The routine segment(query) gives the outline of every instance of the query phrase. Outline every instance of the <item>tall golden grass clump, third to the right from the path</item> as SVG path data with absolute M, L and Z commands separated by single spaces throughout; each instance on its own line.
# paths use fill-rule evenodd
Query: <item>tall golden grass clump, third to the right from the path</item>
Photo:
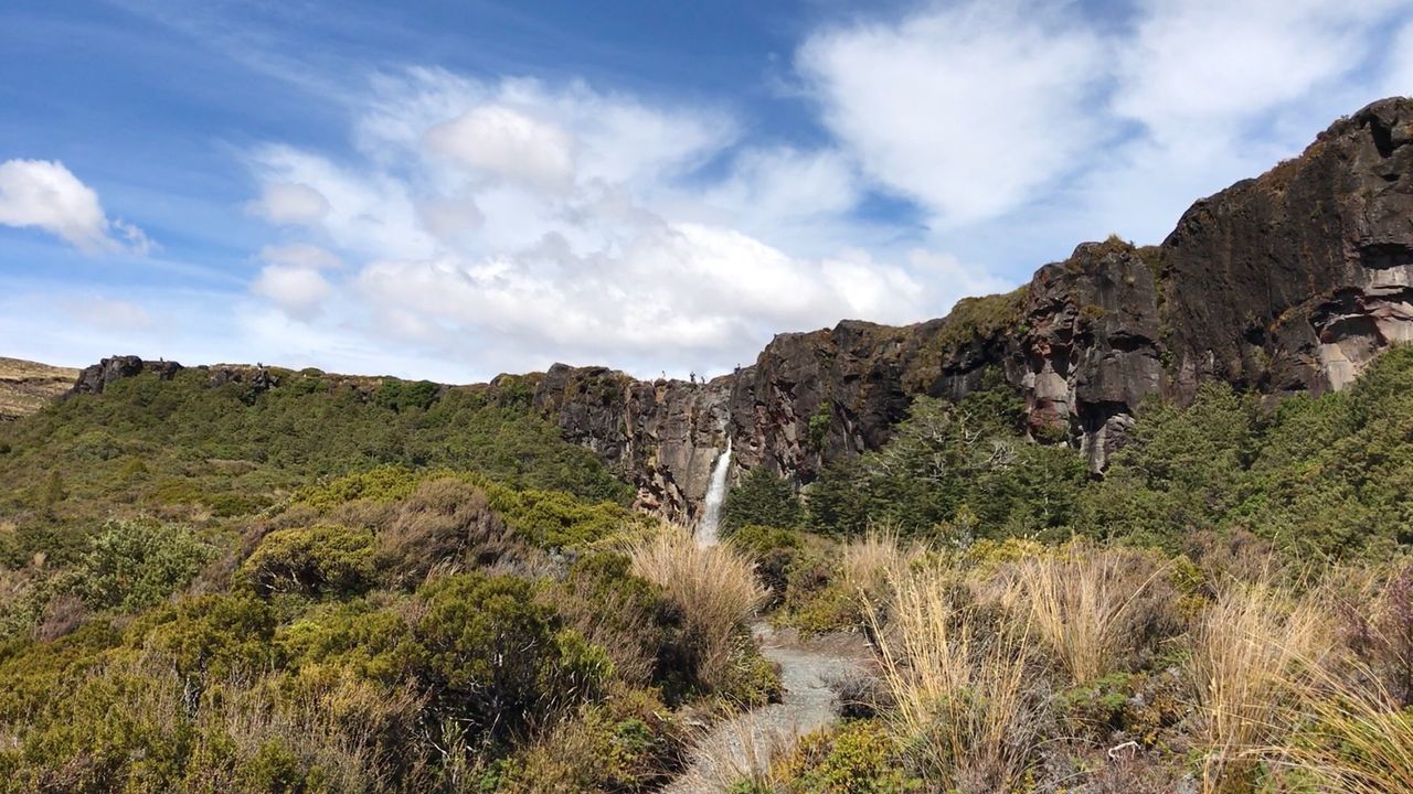
M 1260 749 L 1291 728 L 1291 699 L 1335 646 L 1330 610 L 1269 585 L 1231 583 L 1197 620 L 1190 678 L 1204 791 L 1245 786 Z

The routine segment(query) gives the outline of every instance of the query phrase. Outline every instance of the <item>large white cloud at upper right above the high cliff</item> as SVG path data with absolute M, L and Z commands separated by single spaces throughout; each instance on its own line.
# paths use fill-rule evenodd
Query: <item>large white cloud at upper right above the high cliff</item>
M 818 31 L 796 61 L 842 154 L 911 198 L 934 244 L 975 253 L 972 240 L 1046 229 L 1051 247 L 1013 268 L 1108 232 L 1157 242 L 1197 198 L 1378 95 L 1413 92 L 1409 0 L 1128 11 L 924 3 Z

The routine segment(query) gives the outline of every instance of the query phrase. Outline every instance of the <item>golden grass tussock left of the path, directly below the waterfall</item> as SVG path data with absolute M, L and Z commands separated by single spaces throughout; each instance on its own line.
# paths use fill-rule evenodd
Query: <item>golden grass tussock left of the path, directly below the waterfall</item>
M 627 551 L 633 575 L 661 586 L 682 609 L 697 650 L 698 678 L 709 687 L 721 685 L 742 624 L 766 599 L 755 565 L 729 545 L 698 545 L 681 527 L 663 527 L 632 543 Z

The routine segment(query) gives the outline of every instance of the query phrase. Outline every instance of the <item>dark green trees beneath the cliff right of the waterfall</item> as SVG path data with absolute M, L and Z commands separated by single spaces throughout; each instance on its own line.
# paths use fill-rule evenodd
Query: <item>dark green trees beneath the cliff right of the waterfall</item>
M 1188 405 L 1142 405 L 1099 480 L 1071 449 L 1026 441 L 1002 389 L 918 398 L 883 449 L 807 487 L 807 526 L 858 535 L 882 524 L 958 545 L 1082 534 L 1174 552 L 1204 533 L 1249 531 L 1300 555 L 1388 555 L 1413 543 L 1410 394 L 1409 348 L 1347 391 L 1275 410 L 1207 383 Z

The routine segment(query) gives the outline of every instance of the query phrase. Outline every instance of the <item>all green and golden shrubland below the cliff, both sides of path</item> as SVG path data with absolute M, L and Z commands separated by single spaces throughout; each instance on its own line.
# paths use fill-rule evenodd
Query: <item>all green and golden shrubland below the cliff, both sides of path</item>
M 0 791 L 653 791 L 859 632 L 738 794 L 1413 788 L 1413 350 L 1143 407 L 1105 478 L 920 398 L 721 547 L 514 389 L 141 376 L 0 428 Z

